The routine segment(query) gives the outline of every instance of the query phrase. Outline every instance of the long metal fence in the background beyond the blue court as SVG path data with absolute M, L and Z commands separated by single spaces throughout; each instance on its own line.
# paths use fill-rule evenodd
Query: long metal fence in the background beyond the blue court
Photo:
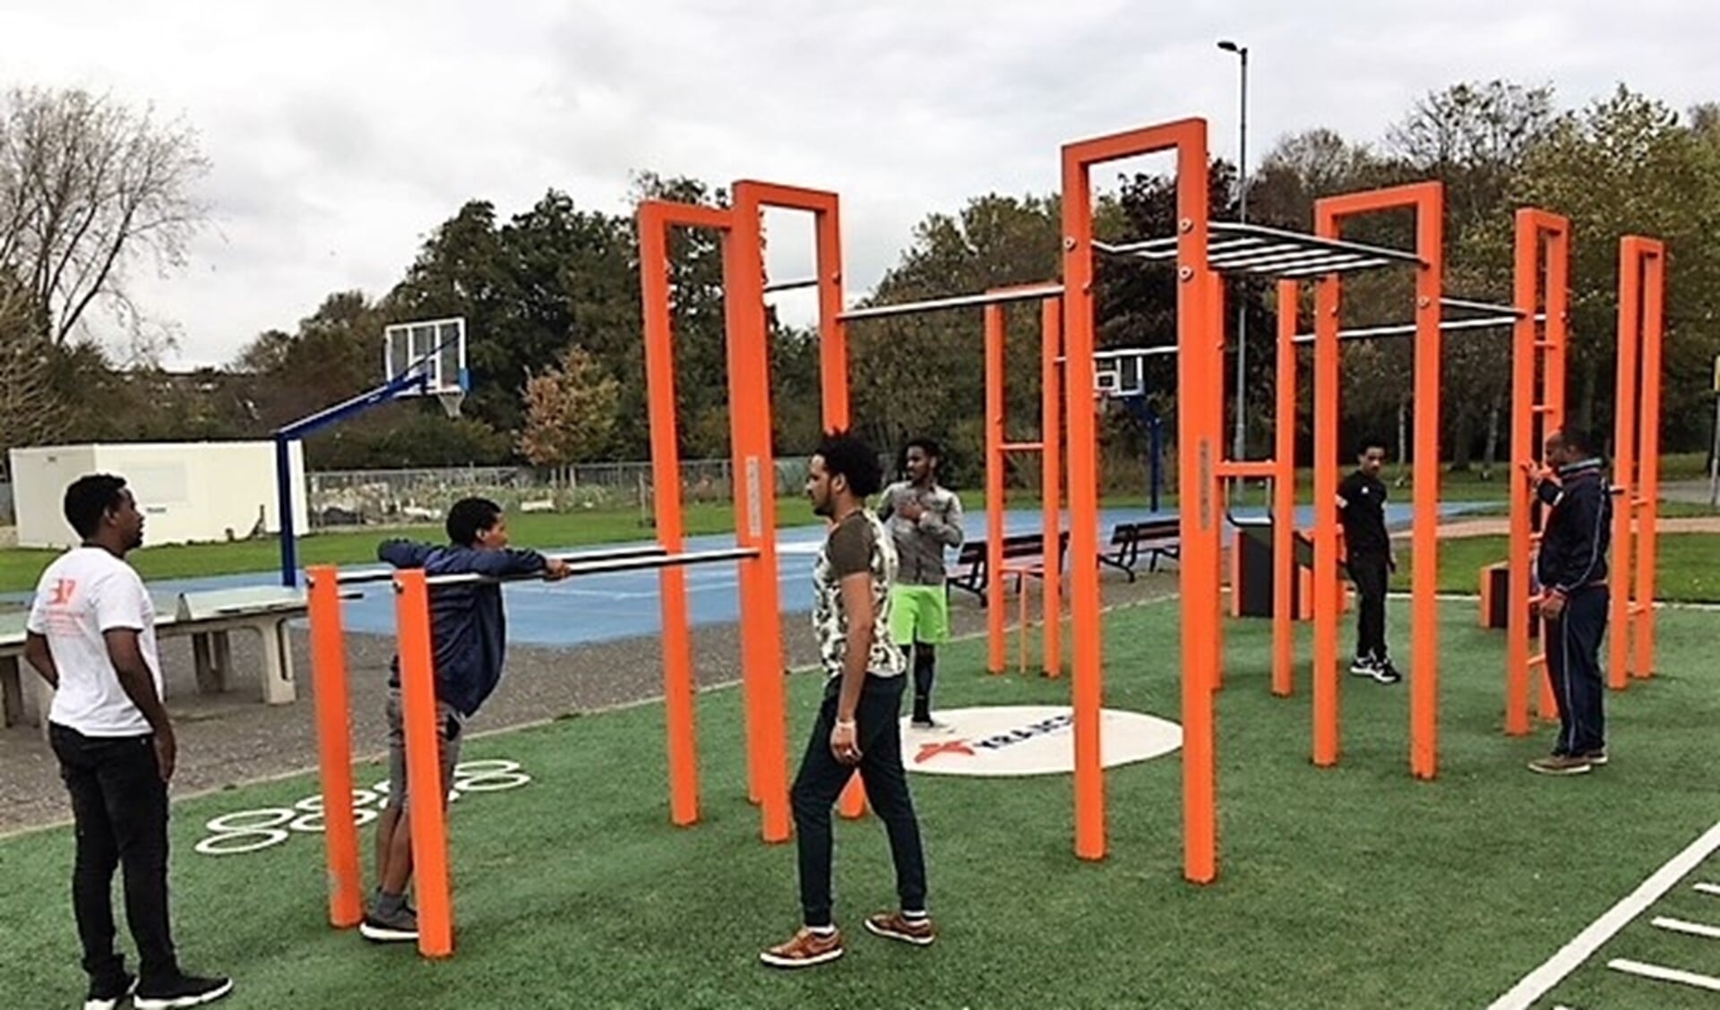
M 777 495 L 798 495 L 805 459 L 776 460 Z M 435 522 L 466 496 L 490 498 L 507 512 L 652 512 L 655 483 L 648 462 L 531 467 L 447 467 L 409 471 L 322 471 L 306 474 L 313 529 Z M 733 502 L 729 460 L 683 460 L 681 500 Z

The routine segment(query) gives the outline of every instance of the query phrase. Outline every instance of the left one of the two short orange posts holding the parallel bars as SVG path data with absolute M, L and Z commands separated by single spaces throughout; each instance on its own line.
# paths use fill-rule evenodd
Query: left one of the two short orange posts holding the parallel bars
M 334 565 L 311 565 L 311 682 L 316 685 L 316 764 L 323 795 L 323 849 L 329 862 L 329 924 L 358 926 L 365 917 L 353 816 L 353 718 L 346 684 L 341 582 Z

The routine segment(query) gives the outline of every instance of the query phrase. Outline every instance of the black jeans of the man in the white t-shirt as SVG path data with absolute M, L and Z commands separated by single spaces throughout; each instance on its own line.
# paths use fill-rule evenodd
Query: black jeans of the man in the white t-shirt
M 167 783 L 155 763 L 155 737 L 86 737 L 52 723 L 48 740 L 72 794 L 77 862 L 72 912 L 93 983 L 124 976 L 114 952 L 114 869 L 126 867 L 126 924 L 138 943 L 143 983 L 174 979 L 174 936 L 167 926 Z

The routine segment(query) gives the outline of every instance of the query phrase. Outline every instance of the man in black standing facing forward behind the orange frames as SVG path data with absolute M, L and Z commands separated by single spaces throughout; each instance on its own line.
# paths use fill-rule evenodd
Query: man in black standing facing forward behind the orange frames
M 1379 479 L 1385 462 L 1386 447 L 1378 438 L 1362 440 L 1355 472 L 1338 484 L 1338 519 L 1359 605 L 1350 673 L 1397 684 L 1404 677 L 1386 651 L 1386 581 L 1397 570 L 1397 557 L 1386 534 L 1386 484 Z

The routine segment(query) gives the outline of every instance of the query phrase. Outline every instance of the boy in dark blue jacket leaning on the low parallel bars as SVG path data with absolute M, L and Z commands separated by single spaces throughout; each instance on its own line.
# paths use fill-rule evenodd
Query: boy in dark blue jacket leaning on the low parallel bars
M 423 569 L 427 575 L 476 574 L 497 579 L 542 572 L 566 579 L 568 563 L 530 550 L 509 550 L 502 508 L 487 498 L 463 498 L 447 512 L 444 546 L 389 539 L 377 558 L 396 569 Z M 430 644 L 435 663 L 437 751 L 442 766 L 440 800 L 459 763 L 459 745 L 470 720 L 502 678 L 507 617 L 497 582 L 464 582 L 430 589 Z M 389 677 L 389 806 L 377 819 L 377 893 L 359 933 L 378 943 L 418 940 L 418 916 L 406 905 L 413 876 L 413 833 L 406 788 L 406 732 L 401 723 L 401 663 Z M 423 794 L 421 794 L 423 795 Z

